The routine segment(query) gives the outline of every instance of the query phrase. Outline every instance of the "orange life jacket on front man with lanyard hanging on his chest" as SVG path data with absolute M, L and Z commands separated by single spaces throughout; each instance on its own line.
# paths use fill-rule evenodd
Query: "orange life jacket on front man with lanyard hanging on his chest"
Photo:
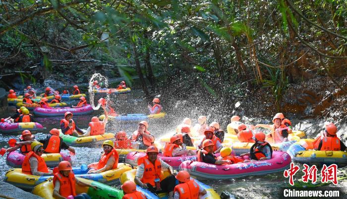
M 141 182 L 144 184 L 149 183 L 155 187 L 154 180 L 156 178 L 159 178 L 160 181 L 162 181 L 162 164 L 160 163 L 160 160 L 157 158 L 153 165 L 153 163 L 148 159 L 148 156 L 145 156 L 137 160 L 138 166 L 142 163 L 145 165 L 145 171 L 143 172 Z

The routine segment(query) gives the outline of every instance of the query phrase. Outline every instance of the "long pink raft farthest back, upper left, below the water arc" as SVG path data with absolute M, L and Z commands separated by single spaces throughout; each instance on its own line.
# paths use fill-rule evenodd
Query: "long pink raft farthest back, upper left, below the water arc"
M 80 108 L 56 108 L 56 109 L 45 109 L 45 108 L 35 108 L 34 114 L 39 117 L 52 117 L 52 116 L 64 116 L 65 112 L 71 112 L 74 116 L 86 115 L 93 112 L 92 106 L 90 104 L 80 107 Z

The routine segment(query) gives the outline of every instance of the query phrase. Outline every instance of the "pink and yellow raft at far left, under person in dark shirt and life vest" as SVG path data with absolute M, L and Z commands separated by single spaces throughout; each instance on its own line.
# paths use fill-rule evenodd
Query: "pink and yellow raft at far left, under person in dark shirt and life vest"
M 62 160 L 71 162 L 70 156 L 64 153 L 43 154 L 41 157 L 45 159 L 47 166 L 51 168 L 58 166 L 59 162 L 61 162 Z M 12 151 L 7 155 L 6 164 L 14 168 L 21 168 L 24 158 L 25 155 L 21 154 L 19 150 Z

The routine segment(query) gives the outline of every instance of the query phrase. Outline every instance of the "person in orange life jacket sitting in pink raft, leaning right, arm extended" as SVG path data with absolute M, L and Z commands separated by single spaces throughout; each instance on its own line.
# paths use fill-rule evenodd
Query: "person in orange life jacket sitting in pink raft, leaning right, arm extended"
M 192 150 L 187 150 L 185 144 L 181 142 L 181 139 L 177 135 L 173 135 L 170 138 L 170 143 L 167 143 L 164 147 L 164 156 L 196 156 L 196 153 Z

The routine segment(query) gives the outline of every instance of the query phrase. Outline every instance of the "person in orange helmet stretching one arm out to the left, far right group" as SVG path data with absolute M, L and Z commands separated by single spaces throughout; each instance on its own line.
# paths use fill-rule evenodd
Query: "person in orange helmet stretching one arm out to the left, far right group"
M 277 113 L 274 118 L 272 119 L 272 122 L 274 124 L 257 124 L 255 127 L 263 127 L 268 128 L 271 130 L 271 133 L 267 135 L 267 138 L 272 138 L 274 143 L 282 143 L 288 141 L 288 135 L 291 133 L 291 129 L 286 126 L 285 124 L 282 124 L 282 119 L 284 119 L 283 114 Z

